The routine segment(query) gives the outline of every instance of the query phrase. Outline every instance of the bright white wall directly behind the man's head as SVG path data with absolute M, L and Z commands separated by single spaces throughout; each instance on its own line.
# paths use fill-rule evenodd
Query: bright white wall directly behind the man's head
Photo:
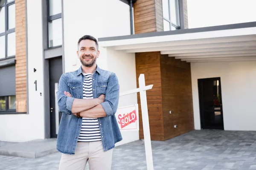
M 63 0 L 65 71 L 80 66 L 77 41 L 84 35 L 112 37 L 130 34 L 129 6 L 120 0 Z M 100 48 L 98 65 L 107 69 L 106 51 Z

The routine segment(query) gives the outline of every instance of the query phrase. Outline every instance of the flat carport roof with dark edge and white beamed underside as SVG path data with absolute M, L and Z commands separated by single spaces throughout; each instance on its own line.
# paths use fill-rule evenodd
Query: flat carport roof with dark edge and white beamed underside
M 160 51 L 187 62 L 256 60 L 256 22 L 99 38 L 127 53 Z

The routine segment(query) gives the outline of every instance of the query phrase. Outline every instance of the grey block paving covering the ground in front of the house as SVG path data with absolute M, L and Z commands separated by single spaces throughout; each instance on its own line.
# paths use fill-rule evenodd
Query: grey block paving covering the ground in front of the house
M 151 145 L 154 170 L 256 169 L 255 131 L 193 130 Z M 0 170 L 58 170 L 60 158 L 61 153 L 36 159 L 0 156 Z M 114 148 L 111 170 L 146 170 L 146 166 L 141 140 Z

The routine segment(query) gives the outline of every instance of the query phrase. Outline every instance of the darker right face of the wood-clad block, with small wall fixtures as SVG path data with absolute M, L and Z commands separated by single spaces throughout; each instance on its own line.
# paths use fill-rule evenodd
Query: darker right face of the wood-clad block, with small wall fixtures
M 161 55 L 164 140 L 194 130 L 190 63 Z M 172 114 L 169 114 L 172 111 Z M 177 128 L 174 128 L 177 125 Z

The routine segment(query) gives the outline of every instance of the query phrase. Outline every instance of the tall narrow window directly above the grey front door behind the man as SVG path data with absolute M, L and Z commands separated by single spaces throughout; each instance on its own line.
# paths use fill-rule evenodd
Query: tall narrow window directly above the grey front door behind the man
M 48 48 L 62 45 L 61 0 L 48 0 Z

